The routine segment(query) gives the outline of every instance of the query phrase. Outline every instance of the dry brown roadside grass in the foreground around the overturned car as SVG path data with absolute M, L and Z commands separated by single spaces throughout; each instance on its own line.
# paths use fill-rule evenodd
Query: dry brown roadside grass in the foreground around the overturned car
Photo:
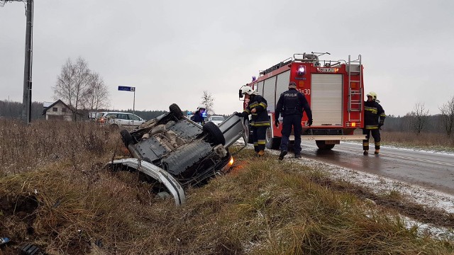
M 454 252 L 452 242 L 315 182 L 317 171 L 247 149 L 231 173 L 189 189 L 175 208 L 135 174 L 101 167 L 124 155 L 116 132 L 90 123 L 0 126 L 0 237 L 13 240 L 0 254 L 17 254 L 23 242 L 48 254 Z

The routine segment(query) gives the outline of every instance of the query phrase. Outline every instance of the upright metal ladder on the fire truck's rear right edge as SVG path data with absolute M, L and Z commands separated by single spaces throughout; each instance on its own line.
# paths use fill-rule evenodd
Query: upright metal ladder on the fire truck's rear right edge
M 351 60 L 348 55 L 348 119 L 351 112 L 362 111 L 362 65 L 361 55 L 358 55 L 357 60 Z M 361 118 L 361 115 L 360 115 Z M 354 120 L 354 121 L 360 121 Z

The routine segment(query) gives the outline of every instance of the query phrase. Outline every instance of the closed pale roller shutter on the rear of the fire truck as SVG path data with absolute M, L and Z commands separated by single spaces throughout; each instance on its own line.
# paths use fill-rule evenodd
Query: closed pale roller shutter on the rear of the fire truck
M 342 126 L 342 74 L 312 74 L 313 126 Z

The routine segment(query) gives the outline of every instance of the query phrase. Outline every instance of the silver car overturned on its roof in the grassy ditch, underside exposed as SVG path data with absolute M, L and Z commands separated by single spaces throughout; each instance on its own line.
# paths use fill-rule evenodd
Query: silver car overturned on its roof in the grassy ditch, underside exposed
M 184 117 L 175 103 L 169 110 L 131 132 L 121 130 L 133 158 L 108 165 L 114 170 L 140 171 L 146 181 L 156 184 L 158 193 L 171 193 L 179 205 L 186 200 L 185 187 L 199 186 L 231 168 L 228 147 L 242 137 L 244 127 L 236 115 L 219 125 L 208 122 L 202 126 Z

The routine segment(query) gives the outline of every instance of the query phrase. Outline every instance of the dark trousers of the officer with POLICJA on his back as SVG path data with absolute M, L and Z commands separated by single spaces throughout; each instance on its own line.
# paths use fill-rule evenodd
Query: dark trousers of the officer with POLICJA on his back
M 301 118 L 302 115 L 287 115 L 284 116 L 282 120 L 282 139 L 281 139 L 281 152 L 287 152 L 288 145 L 289 145 L 289 137 L 292 133 L 292 126 L 293 126 L 293 134 L 295 136 L 295 145 L 294 145 L 294 153 L 298 155 L 301 153 Z

